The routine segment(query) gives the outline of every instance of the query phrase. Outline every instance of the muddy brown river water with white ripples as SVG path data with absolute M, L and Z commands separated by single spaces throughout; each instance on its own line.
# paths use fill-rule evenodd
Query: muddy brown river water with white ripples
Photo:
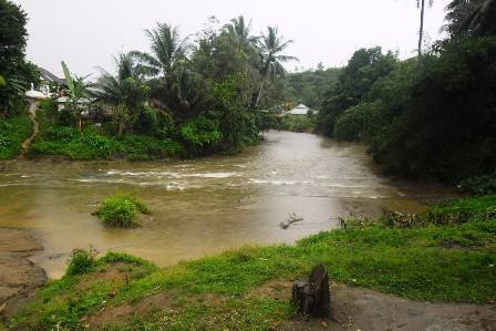
M 60 277 L 74 248 L 125 251 L 159 266 L 244 245 L 294 242 L 354 213 L 381 206 L 416 213 L 443 187 L 392 180 L 356 144 L 270 132 L 260 146 L 230 157 L 153 163 L 22 163 L 0 173 L 0 227 L 32 229 L 45 250 L 34 257 Z M 106 228 L 91 215 L 104 196 L 136 190 L 152 209 L 137 229 Z M 290 214 L 303 218 L 283 230 Z

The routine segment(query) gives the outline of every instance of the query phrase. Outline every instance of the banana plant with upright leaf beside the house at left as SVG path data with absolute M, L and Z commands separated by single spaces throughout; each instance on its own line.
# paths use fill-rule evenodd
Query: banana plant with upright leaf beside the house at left
M 90 96 L 87 87 L 92 86 L 92 83 L 85 82 L 85 79 L 87 79 L 89 75 L 84 77 L 72 75 L 65 62 L 62 61 L 61 64 L 65 76 L 65 83 L 69 87 L 69 99 L 65 103 L 65 107 L 72 112 L 78 128 L 82 131 L 81 107 L 78 103 L 81 99 L 87 99 Z

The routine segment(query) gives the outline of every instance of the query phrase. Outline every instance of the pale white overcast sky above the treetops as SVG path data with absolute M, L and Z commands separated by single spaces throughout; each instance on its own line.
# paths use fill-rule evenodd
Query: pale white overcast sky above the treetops
M 182 37 L 196 34 L 215 15 L 220 25 L 244 15 L 252 20 L 252 34 L 277 25 L 293 43 L 285 51 L 300 62 L 289 71 L 343 66 L 360 48 L 382 46 L 414 55 L 420 10 L 415 0 L 11 0 L 28 13 L 28 60 L 62 76 L 60 62 L 82 76 L 97 76 L 95 66 L 115 72 L 113 55 L 148 51 L 144 29 L 156 22 L 177 25 Z M 427 1 L 426 1 L 427 2 Z M 444 7 L 434 1 L 425 12 L 425 31 L 441 39 Z

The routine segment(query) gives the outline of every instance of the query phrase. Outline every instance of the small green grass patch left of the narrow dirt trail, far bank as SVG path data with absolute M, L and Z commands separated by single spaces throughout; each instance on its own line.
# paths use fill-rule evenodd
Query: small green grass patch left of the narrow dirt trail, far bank
M 21 154 L 22 143 L 33 133 L 32 126 L 28 114 L 0 120 L 0 159 L 13 158 Z

